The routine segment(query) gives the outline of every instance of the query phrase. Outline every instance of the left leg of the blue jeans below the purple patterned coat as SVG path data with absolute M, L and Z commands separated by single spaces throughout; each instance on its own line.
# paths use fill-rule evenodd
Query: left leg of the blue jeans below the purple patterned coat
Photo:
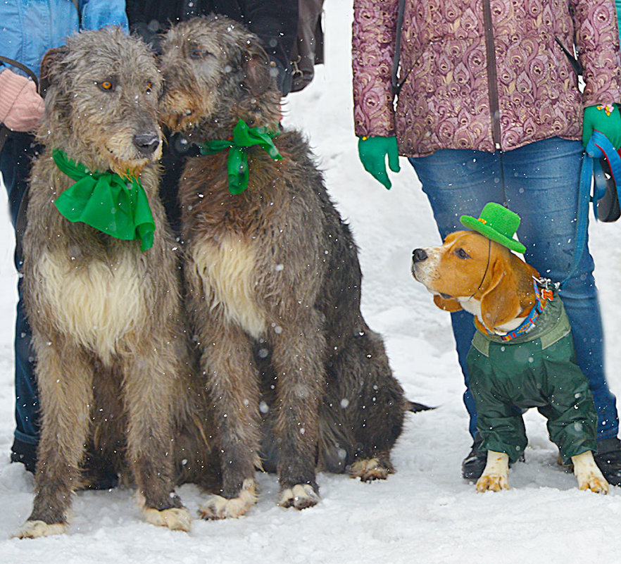
M 443 149 L 426 157 L 410 158 L 422 191 L 427 194 L 441 238 L 465 229 L 461 215 L 479 216 L 489 201 L 503 203 L 503 180 L 500 159 L 496 153 Z M 468 430 L 477 433 L 477 408 L 470 392 L 466 356 L 475 334 L 472 315 L 466 311 L 451 313 L 457 356 L 464 376 L 465 407 L 470 415 Z

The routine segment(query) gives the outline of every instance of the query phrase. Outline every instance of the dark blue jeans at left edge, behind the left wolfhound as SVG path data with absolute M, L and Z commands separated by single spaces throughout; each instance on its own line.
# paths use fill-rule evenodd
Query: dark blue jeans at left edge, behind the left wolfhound
M 22 265 L 20 242 L 23 232 L 18 231 L 18 212 L 27 190 L 30 161 L 36 151 L 35 139 L 27 133 L 11 132 L 0 153 L 0 172 L 8 194 L 11 222 L 15 228 L 15 268 Z M 39 400 L 37 380 L 30 349 L 30 325 L 26 318 L 21 278 L 18 281 L 18 306 L 15 319 L 15 439 L 28 444 L 39 440 Z

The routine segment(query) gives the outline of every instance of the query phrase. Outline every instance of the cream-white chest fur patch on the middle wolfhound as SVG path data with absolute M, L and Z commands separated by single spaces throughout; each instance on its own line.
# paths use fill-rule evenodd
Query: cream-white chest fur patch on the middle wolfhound
M 256 255 L 251 245 L 234 237 L 220 244 L 201 242 L 192 259 L 211 308 L 222 306 L 227 320 L 258 338 L 265 331 L 265 313 L 256 301 Z

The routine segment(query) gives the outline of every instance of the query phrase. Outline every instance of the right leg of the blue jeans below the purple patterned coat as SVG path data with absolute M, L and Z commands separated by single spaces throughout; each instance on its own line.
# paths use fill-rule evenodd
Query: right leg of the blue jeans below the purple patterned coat
M 545 139 L 503 153 L 509 208 L 522 218 L 517 231 L 526 246 L 526 261 L 555 282 L 569 275 L 575 253 L 577 199 L 582 144 Z M 572 325 L 577 364 L 589 380 L 598 413 L 598 439 L 616 437 L 619 427 L 615 396 L 604 372 L 603 330 L 594 262 L 588 237 L 579 268 L 560 296 Z

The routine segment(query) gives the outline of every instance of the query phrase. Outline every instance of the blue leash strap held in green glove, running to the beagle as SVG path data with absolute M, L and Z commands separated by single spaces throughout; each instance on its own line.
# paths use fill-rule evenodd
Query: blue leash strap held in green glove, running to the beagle
M 591 139 L 586 144 L 586 151 L 582 158 L 582 169 L 580 170 L 580 187 L 578 192 L 578 213 L 576 225 L 576 251 L 574 253 L 574 262 L 569 274 L 560 282 L 560 287 L 570 279 L 575 273 L 584 253 L 586 246 L 586 235 L 589 227 L 589 201 L 593 202 L 593 213 L 597 221 L 597 201 L 606 194 L 606 177 L 599 159 L 606 157 L 610 166 L 610 173 L 613 175 L 615 183 L 621 182 L 621 157 L 608 138 L 601 132 L 594 131 Z M 593 181 L 593 182 L 591 182 Z M 591 183 L 594 187 L 594 193 L 591 196 Z M 621 203 L 621 192 L 619 192 Z

